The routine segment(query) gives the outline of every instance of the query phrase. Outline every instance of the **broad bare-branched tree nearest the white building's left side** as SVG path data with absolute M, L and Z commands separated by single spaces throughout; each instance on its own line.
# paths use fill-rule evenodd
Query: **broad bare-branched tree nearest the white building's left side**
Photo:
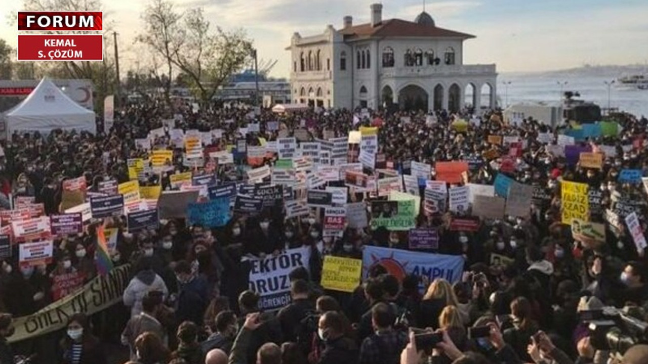
M 176 46 L 172 62 L 191 81 L 195 96 L 203 104 L 209 102 L 218 87 L 242 69 L 249 59 L 252 43 L 243 30 L 226 32 L 216 27 L 209 32 L 209 21 L 202 8 L 189 10 L 185 27 L 174 38 Z

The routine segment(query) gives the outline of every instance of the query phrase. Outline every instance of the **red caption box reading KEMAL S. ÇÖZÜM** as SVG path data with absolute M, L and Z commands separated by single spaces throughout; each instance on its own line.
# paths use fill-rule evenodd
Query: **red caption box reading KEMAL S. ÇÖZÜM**
M 102 61 L 101 34 L 19 34 L 19 61 Z

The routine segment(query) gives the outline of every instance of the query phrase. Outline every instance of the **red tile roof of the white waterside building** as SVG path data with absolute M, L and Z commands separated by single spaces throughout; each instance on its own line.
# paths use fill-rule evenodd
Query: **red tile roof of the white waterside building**
M 475 36 L 470 34 L 429 25 L 420 25 L 401 19 L 387 19 L 376 27 L 371 27 L 371 23 L 354 25 L 353 27 L 340 29 L 340 33 L 345 36 L 345 39 L 371 37 L 452 37 L 467 40 L 475 38 Z

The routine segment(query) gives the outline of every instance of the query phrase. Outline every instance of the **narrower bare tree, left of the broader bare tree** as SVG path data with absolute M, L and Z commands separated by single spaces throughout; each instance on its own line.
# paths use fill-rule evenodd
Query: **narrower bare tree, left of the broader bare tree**
M 148 45 L 167 62 L 167 82 L 164 84 L 167 105 L 172 108 L 170 90 L 173 72 L 172 55 L 176 52 L 173 38 L 179 34 L 181 15 L 176 13 L 173 4 L 166 0 L 152 0 L 142 16 L 146 24 L 145 33 L 137 36 L 136 40 Z

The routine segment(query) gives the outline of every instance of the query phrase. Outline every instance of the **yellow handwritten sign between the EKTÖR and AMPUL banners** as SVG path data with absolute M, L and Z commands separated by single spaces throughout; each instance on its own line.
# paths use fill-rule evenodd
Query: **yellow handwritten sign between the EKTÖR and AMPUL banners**
M 325 290 L 353 292 L 360 285 L 362 259 L 327 255 L 321 273 L 321 286 Z

